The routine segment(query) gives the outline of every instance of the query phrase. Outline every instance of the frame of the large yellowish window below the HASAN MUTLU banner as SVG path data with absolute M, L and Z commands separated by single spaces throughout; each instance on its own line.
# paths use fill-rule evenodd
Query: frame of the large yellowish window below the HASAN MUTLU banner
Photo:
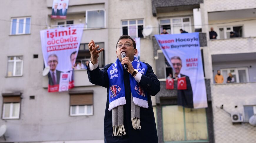
M 179 105 L 174 105 L 174 104 L 167 104 L 167 105 L 162 105 L 161 106 L 161 116 L 162 116 L 162 125 L 164 126 L 164 121 L 163 121 L 163 106 L 179 106 Z M 205 108 L 205 118 L 206 118 L 206 130 L 207 130 L 207 140 L 185 140 L 186 139 L 186 121 L 185 121 L 185 107 L 183 108 L 183 125 L 184 125 L 184 141 L 164 141 L 164 128 L 162 127 L 162 139 L 164 143 L 191 143 L 191 142 L 209 142 L 209 132 L 208 132 L 208 121 L 207 121 L 207 111 Z M 191 108 L 193 109 L 193 108 Z

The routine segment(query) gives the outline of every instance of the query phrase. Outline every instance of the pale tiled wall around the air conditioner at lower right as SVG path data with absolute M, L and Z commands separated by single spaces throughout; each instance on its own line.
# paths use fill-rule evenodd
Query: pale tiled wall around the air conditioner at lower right
M 256 83 L 231 83 L 212 85 L 212 109 L 215 143 L 243 142 L 251 143 L 256 140 L 256 128 L 248 123 L 235 124 L 228 112 L 238 112 L 244 115 L 244 105 L 256 105 Z M 235 108 L 237 106 L 237 108 Z

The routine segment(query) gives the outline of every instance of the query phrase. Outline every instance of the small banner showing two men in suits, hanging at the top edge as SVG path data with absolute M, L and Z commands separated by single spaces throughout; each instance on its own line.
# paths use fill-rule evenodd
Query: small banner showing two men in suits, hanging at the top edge
M 53 0 L 51 18 L 66 19 L 69 0 Z

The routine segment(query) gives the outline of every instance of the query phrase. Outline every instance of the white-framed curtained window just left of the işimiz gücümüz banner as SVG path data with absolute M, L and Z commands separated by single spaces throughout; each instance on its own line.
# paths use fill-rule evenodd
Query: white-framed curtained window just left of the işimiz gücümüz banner
M 7 76 L 21 76 L 23 70 L 22 56 L 10 56 L 7 63 Z

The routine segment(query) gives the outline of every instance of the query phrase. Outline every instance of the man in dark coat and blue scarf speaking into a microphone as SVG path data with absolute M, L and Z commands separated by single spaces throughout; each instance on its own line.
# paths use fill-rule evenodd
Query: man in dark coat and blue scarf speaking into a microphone
M 160 84 L 151 66 L 139 61 L 136 43 L 128 35 L 117 41 L 117 60 L 102 70 L 98 66 L 99 53 L 92 40 L 89 44 L 91 60 L 89 81 L 107 88 L 104 116 L 105 143 L 157 143 L 157 130 L 151 96 L 160 91 Z M 127 67 L 127 70 L 124 68 Z

